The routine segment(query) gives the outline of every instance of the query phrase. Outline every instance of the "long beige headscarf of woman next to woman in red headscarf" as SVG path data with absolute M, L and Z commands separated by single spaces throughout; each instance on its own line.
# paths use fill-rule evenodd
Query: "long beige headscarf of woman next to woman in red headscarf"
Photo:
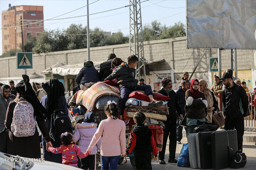
M 202 85 L 202 88 L 203 88 L 202 92 L 204 93 L 204 96 L 208 103 L 207 109 L 209 109 L 210 107 L 213 107 L 213 96 L 210 93 L 210 90 L 208 89 L 208 84 L 205 80 L 201 79 L 199 80 L 199 83 Z M 206 113 L 206 119 L 208 123 L 212 123 L 212 112 Z

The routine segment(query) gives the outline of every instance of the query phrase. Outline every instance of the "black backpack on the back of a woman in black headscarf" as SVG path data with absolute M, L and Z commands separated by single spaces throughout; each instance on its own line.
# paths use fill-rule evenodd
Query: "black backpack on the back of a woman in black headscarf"
M 69 117 L 63 113 L 62 109 L 55 109 L 51 115 L 51 127 L 50 127 L 50 137 L 55 141 L 60 141 L 60 135 L 65 132 L 72 133 L 70 127 Z

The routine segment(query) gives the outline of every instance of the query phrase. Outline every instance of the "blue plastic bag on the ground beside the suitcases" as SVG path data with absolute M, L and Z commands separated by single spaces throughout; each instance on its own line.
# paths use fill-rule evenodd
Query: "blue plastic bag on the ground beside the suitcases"
M 187 167 L 190 166 L 189 153 L 188 153 L 188 143 L 183 144 L 181 153 L 178 157 L 177 166 Z

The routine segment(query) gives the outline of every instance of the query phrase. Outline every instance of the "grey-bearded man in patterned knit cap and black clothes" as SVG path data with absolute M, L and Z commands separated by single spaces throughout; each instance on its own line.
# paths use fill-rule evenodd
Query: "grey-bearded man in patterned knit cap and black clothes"
M 166 143 L 167 138 L 169 136 L 169 163 L 177 163 L 177 160 L 175 159 L 175 152 L 176 152 L 176 145 L 177 145 L 177 134 L 176 134 L 176 124 L 177 124 L 177 115 L 176 111 L 178 112 L 179 119 L 182 119 L 182 111 L 180 104 L 178 103 L 178 97 L 177 94 L 172 90 L 172 81 L 168 78 L 163 78 L 161 80 L 163 88 L 158 91 L 160 94 L 169 96 L 170 100 L 168 100 L 167 106 L 169 107 L 169 115 L 166 115 L 167 120 L 163 121 L 165 124 L 164 129 L 164 140 L 163 140 L 163 146 L 162 151 L 159 152 L 159 163 L 165 164 L 165 149 L 166 149 Z

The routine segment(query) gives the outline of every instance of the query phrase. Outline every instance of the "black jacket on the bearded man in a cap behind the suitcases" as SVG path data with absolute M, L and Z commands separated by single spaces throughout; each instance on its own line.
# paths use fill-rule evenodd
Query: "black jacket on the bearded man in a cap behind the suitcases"
M 234 83 L 234 82 L 233 82 Z M 229 88 L 222 90 L 222 102 L 225 119 L 235 119 L 243 117 L 247 112 L 249 101 L 244 88 L 234 83 L 231 91 Z

